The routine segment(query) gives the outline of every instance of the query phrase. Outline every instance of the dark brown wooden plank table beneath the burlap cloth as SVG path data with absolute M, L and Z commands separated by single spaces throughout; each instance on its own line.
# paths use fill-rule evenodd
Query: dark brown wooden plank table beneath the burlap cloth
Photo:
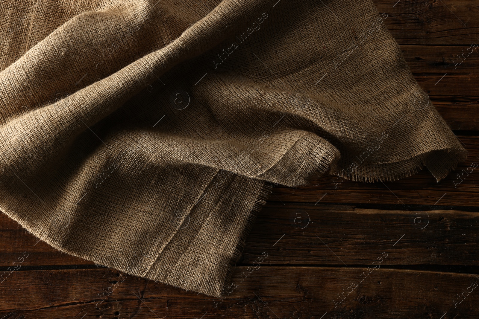
M 375 3 L 468 150 L 455 172 L 441 183 L 423 170 L 396 182 L 324 176 L 275 187 L 225 299 L 60 253 L 1 214 L 0 271 L 10 275 L 0 282 L 0 319 L 479 318 L 479 169 L 463 174 L 479 163 L 479 50 L 463 55 L 479 43 L 479 1 Z

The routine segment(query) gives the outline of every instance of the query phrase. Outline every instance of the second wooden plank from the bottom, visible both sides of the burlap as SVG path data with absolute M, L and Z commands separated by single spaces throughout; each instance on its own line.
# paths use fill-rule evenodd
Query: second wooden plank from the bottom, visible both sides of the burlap
M 37 242 L 4 214 L 0 225 L 0 274 L 8 275 L 7 267 L 93 264 Z M 239 263 L 251 264 L 266 251 L 264 264 L 364 265 L 393 247 L 384 264 L 477 266 L 477 242 L 479 212 L 270 202 L 259 213 Z

